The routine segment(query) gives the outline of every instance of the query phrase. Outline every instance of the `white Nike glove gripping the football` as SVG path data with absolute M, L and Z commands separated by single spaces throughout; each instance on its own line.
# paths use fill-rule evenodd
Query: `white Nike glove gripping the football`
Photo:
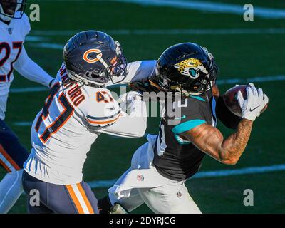
M 247 88 L 247 99 L 244 100 L 242 92 L 239 91 L 237 100 L 242 109 L 242 118 L 254 121 L 259 117 L 261 110 L 264 109 L 269 99 L 261 88 L 257 90 L 253 83 L 249 83 L 249 86 Z

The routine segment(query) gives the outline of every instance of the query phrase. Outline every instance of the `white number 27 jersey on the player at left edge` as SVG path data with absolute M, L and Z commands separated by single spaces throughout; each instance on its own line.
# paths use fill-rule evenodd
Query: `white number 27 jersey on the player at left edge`
M 20 14 L 17 12 L 16 14 Z M 10 84 L 14 79 L 13 65 L 20 56 L 26 35 L 31 26 L 28 16 L 12 19 L 10 24 L 0 21 L 0 119 L 3 120 L 6 111 Z

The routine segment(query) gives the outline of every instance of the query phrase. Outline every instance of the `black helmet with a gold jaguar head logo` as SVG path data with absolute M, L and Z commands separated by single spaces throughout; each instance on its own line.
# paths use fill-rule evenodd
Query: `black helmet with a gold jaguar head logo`
M 150 78 L 152 86 L 188 97 L 212 88 L 218 68 L 207 48 L 196 43 L 178 43 L 162 53 L 156 71 Z

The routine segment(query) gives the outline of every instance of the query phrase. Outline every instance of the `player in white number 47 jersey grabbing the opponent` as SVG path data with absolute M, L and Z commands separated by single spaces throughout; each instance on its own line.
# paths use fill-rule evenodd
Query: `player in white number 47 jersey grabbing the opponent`
M 32 207 L 28 203 L 30 213 L 98 212 L 97 199 L 82 174 L 91 145 L 100 133 L 124 137 L 145 133 L 147 113 L 142 95 L 130 92 L 119 99 L 128 106 L 127 114 L 106 85 L 123 81 L 127 74 L 129 78 L 140 75 L 140 67 L 147 64 L 127 67 L 118 41 L 100 31 L 73 36 L 64 47 L 63 60 L 32 126 L 33 148 L 24 164 L 23 185 L 28 202 L 30 191 L 36 189 L 41 204 Z

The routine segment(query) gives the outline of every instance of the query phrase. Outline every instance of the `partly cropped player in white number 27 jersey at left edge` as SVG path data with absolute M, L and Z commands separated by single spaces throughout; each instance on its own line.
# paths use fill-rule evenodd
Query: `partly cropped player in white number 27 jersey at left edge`
M 0 183 L 0 213 L 6 213 L 23 192 L 21 173 L 28 152 L 4 122 L 14 69 L 28 80 L 51 86 L 54 78 L 28 58 L 24 48 L 31 30 L 24 14 L 26 1 L 0 0 L 0 165 L 7 175 Z

